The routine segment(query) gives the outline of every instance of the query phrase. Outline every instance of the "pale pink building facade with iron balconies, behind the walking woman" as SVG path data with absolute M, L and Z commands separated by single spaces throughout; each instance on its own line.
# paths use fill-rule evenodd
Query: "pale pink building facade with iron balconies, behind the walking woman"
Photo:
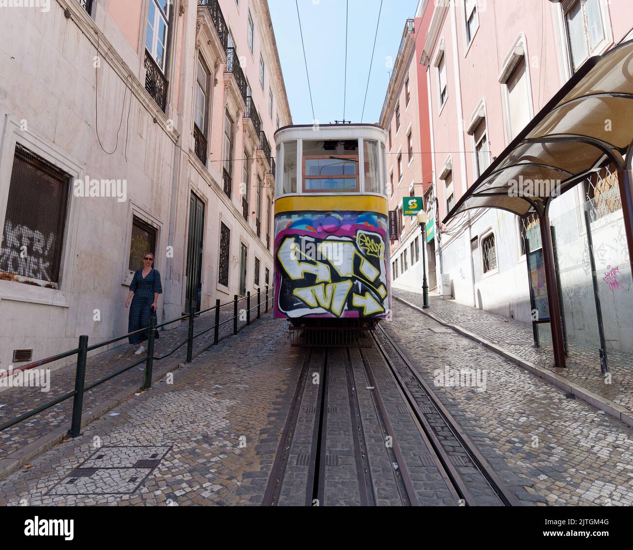
M 162 320 L 272 287 L 266 1 L 34 4 L 0 18 L 0 368 L 125 334 L 147 251 Z

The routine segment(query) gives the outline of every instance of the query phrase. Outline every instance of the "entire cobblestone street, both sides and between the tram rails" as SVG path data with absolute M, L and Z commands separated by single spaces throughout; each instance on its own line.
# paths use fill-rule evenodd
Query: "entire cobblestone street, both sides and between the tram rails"
M 397 301 L 385 329 L 518 504 L 633 504 L 630 427 Z M 0 504 L 259 505 L 275 479 L 279 504 L 310 504 L 319 454 L 320 504 L 459 504 L 375 347 L 306 353 L 263 318 L 8 475 Z M 447 367 L 484 369 L 485 385 L 437 385 Z M 477 503 L 498 504 L 453 462 Z

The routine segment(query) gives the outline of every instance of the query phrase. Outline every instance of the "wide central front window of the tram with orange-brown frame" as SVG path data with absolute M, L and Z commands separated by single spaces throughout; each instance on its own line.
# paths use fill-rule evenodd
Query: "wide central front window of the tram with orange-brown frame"
M 303 141 L 303 191 L 359 191 L 358 140 Z

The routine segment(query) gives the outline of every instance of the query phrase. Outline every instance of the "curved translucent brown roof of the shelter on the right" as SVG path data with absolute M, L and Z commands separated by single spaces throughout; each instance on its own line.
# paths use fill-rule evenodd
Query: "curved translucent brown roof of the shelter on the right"
M 555 196 L 550 182 L 561 194 L 605 163 L 623 169 L 622 156 L 633 142 L 632 100 L 633 40 L 587 59 L 470 186 L 444 223 L 472 208 L 544 215 Z M 521 180 L 548 184 L 525 187 Z M 522 196 L 513 196 L 511 189 L 520 189 Z

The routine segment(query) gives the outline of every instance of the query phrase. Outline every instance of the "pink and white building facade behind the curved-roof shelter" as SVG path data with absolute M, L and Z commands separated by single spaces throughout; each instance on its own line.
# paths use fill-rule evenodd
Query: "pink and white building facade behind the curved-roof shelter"
M 419 61 L 427 67 L 436 260 L 450 285 L 443 293 L 508 318 L 534 318 L 542 285 L 530 285 L 527 258 L 541 246 L 537 220 L 500 209 L 463 211 L 446 225 L 441 220 L 584 61 L 632 37 L 629 7 L 619 0 L 529 0 L 520 9 L 494 0 L 430 5 Z M 625 312 L 633 294 L 617 187 L 606 168 L 556 197 L 549 216 L 568 341 L 599 344 L 602 324 L 606 347 L 632 351 Z

